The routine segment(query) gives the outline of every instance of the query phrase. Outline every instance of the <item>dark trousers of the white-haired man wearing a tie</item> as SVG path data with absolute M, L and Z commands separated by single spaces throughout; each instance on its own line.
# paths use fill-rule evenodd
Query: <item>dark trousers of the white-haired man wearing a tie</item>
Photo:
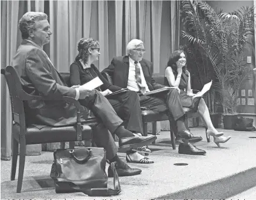
M 175 89 L 171 89 L 168 93 L 158 93 L 153 96 L 139 96 L 142 107 L 149 108 L 153 111 L 165 112 L 169 111 L 169 121 L 173 122 L 185 115 L 180 101 L 179 92 Z M 176 133 L 176 123 L 172 123 L 172 128 Z

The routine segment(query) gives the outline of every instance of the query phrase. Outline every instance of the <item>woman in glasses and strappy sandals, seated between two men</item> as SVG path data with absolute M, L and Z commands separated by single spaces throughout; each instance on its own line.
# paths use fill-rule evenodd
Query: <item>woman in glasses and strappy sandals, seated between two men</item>
M 103 85 L 96 89 L 102 93 L 110 102 L 118 116 L 124 121 L 125 129 L 140 134 L 143 132 L 141 108 L 139 104 L 139 96 L 134 91 L 126 91 L 112 96 L 106 96 L 118 90 L 121 87 L 111 85 L 100 71 L 93 64 L 98 60 L 100 55 L 100 44 L 93 38 L 81 38 L 78 43 L 78 55 L 75 61 L 70 65 L 70 82 L 71 85 L 84 85 L 94 78 L 100 78 Z M 138 150 L 137 148 L 134 150 Z M 144 153 L 149 149 L 143 148 Z M 129 150 L 126 156 L 127 162 L 134 163 L 153 163 L 148 157 L 140 155 L 136 151 Z

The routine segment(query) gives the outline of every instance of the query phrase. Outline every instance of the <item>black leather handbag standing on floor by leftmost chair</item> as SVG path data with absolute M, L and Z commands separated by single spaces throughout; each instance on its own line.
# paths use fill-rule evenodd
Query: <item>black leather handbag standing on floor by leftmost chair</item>
M 83 192 L 88 196 L 111 196 L 121 192 L 115 162 L 110 163 L 114 173 L 114 190 L 107 188 L 105 149 L 57 149 L 53 157 L 50 177 L 56 193 Z

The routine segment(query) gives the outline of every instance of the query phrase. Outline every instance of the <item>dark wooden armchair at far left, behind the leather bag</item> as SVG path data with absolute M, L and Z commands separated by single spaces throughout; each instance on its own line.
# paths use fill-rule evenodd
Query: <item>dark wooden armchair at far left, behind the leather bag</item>
M 26 145 L 52 143 L 52 142 L 70 142 L 70 141 L 86 141 L 85 146 L 91 146 L 92 129 L 90 125 L 94 121 L 88 121 L 88 124 L 81 125 L 80 122 L 80 103 L 71 97 L 62 97 L 59 100 L 69 101 L 77 108 L 77 123 L 69 127 L 48 127 L 41 129 L 28 126 L 25 121 L 25 112 L 23 101 L 28 100 L 47 100 L 41 96 L 32 96 L 22 89 L 21 81 L 15 69 L 7 66 L 1 69 L 1 73 L 5 76 L 9 88 L 12 106 L 12 169 L 11 180 L 15 180 L 16 164 L 18 158 L 18 145 L 20 144 L 19 154 L 19 175 L 17 184 L 17 193 L 21 192 L 23 172 L 25 166 Z M 72 142 L 70 148 L 74 148 Z

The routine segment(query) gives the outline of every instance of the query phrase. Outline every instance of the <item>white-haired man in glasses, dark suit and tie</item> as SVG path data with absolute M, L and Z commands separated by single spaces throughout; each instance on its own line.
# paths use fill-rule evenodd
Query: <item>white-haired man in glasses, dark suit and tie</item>
M 155 94 L 154 96 L 143 95 L 145 92 L 165 87 L 156 83 L 152 78 L 151 69 L 153 64 L 143 59 L 144 52 L 144 43 L 141 40 L 131 40 L 127 45 L 127 55 L 114 57 L 108 68 L 103 70 L 103 73 L 108 73 L 111 76 L 114 85 L 138 92 L 142 107 L 159 112 L 169 111 L 170 120 L 175 120 L 176 122 L 177 131 L 175 132 L 178 132 L 176 140 L 181 142 L 179 153 L 205 154 L 204 150 L 198 149 L 190 143 L 199 142 L 202 137 L 194 136 L 185 127 L 185 112 L 180 103 L 178 88 L 173 88 L 169 92 Z

